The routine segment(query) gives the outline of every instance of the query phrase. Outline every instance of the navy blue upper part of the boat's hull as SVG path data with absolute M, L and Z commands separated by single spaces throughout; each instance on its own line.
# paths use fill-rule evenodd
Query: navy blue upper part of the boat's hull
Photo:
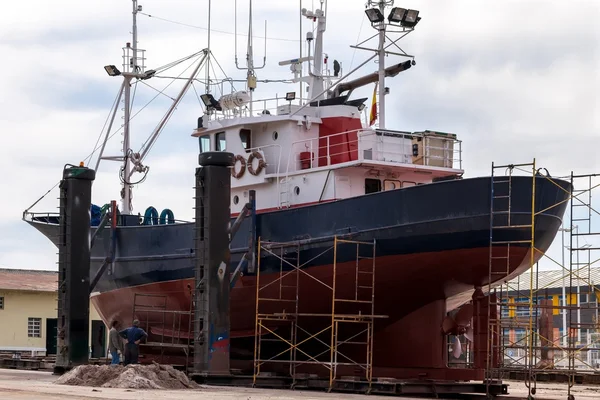
M 527 177 L 513 178 L 513 224 L 531 220 L 531 181 Z M 566 208 L 564 200 L 570 192 L 569 183 L 554 182 L 536 179 L 536 210 L 546 210 L 536 217 L 536 247 L 541 251 L 556 235 Z M 246 219 L 232 241 L 232 268 L 246 251 L 249 224 Z M 51 239 L 56 236 L 57 225 L 33 225 Z M 116 261 L 100 279 L 96 291 L 192 278 L 193 227 L 193 223 L 119 227 Z M 355 240 L 375 239 L 378 257 L 484 248 L 489 246 L 489 227 L 490 178 L 432 183 L 257 215 L 257 235 L 262 240 L 305 243 L 301 260 L 312 259 L 331 246 L 334 235 L 345 234 Z M 505 230 L 502 234 L 495 239 L 527 239 L 529 232 Z M 106 229 L 92 248 L 92 276 L 109 247 L 110 232 Z M 317 257 L 306 267 L 331 264 L 332 257 Z M 348 249 L 338 253 L 338 262 L 355 257 Z M 278 269 L 279 260 L 266 257 L 261 265 L 264 271 Z M 401 265 L 398 274 L 402 274 Z

